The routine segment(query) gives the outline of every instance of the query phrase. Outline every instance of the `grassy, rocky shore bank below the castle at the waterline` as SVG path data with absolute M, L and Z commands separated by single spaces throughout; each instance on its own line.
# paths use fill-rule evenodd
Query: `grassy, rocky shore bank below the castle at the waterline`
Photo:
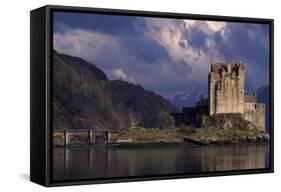
M 220 129 L 217 127 L 181 127 L 170 129 L 131 127 L 117 139 L 125 143 L 180 142 L 184 137 L 210 144 L 266 142 L 269 135 L 258 129 Z

